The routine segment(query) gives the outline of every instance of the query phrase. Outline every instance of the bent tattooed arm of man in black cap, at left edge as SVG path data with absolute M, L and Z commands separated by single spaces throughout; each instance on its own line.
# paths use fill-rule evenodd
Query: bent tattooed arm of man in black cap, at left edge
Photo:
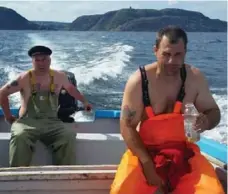
M 5 84 L 0 89 L 0 105 L 4 112 L 6 120 L 9 120 L 12 115 L 10 113 L 9 99 L 10 94 L 19 92 L 22 89 L 22 76 L 19 76 L 17 79 L 11 81 L 10 83 Z

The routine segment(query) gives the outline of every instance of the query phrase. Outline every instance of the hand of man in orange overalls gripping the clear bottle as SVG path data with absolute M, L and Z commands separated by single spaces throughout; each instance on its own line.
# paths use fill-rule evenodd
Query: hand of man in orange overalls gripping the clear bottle
M 194 130 L 196 130 L 199 133 L 202 133 L 205 130 L 209 129 L 209 127 L 210 127 L 210 122 L 208 117 L 205 114 L 200 113 L 199 116 L 196 118 Z

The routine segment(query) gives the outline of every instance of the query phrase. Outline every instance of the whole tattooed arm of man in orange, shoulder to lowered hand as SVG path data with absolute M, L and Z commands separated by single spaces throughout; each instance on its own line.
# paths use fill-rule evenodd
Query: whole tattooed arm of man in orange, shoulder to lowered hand
M 136 131 L 143 112 L 140 80 L 140 73 L 137 71 L 126 84 L 121 108 L 120 130 L 127 147 L 138 157 L 147 184 L 158 186 L 158 190 L 164 193 L 162 179 L 157 175 L 152 158 Z

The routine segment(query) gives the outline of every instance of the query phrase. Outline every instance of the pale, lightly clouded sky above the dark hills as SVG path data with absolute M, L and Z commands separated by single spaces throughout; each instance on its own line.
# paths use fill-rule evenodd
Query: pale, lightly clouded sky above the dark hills
M 223 1 L 2 1 L 0 6 L 14 9 L 30 21 L 72 22 L 82 15 L 103 14 L 122 8 L 180 8 L 199 11 L 211 19 L 227 21 L 227 0 Z

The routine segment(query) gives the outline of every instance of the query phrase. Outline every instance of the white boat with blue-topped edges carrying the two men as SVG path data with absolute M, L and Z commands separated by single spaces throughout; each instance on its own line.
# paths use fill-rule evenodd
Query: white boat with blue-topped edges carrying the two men
M 18 109 L 11 112 L 17 115 Z M 0 109 L 0 193 L 108 194 L 126 150 L 119 130 L 119 116 L 119 110 L 96 110 L 93 122 L 66 123 L 77 132 L 77 164 L 74 166 L 53 166 L 49 151 L 37 142 L 31 166 L 10 168 L 10 125 Z M 227 191 L 227 146 L 205 137 L 197 144 Z

